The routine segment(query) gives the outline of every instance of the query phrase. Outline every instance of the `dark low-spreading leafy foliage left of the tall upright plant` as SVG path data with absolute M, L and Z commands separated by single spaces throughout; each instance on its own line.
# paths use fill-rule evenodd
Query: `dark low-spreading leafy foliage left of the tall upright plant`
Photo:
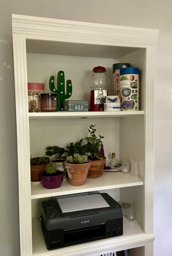
M 52 156 L 52 155 L 57 154 L 58 158 L 65 157 L 65 156 L 63 156 L 65 153 L 68 156 L 74 156 L 75 153 L 82 155 L 82 148 L 83 148 L 81 145 L 82 140 L 83 139 L 76 142 L 75 144 L 74 144 L 74 142 L 71 142 L 69 145 L 66 146 L 67 149 L 60 148 L 58 146 L 48 147 L 47 148 L 48 151 L 46 151 L 46 155 Z

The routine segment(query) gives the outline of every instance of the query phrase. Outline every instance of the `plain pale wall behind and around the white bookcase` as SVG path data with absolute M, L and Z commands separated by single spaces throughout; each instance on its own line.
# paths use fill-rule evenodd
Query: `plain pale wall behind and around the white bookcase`
M 172 1 L 1 0 L 0 6 L 0 255 L 20 255 L 12 13 L 160 29 L 156 48 L 154 255 L 171 255 Z

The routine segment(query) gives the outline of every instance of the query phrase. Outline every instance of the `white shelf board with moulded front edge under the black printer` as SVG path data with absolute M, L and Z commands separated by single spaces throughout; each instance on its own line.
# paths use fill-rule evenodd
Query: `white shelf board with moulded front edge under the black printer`
M 47 250 L 41 229 L 41 223 L 37 217 L 32 217 L 32 243 L 34 256 L 81 256 L 98 255 L 97 252 L 119 248 L 121 250 L 128 244 L 143 243 L 154 240 L 153 235 L 146 235 L 136 220 L 129 221 L 123 218 L 123 235 L 108 239 L 101 239 L 89 243 L 67 246 L 55 250 Z M 118 249 L 119 250 L 119 249 Z M 86 253 L 87 252 L 87 253 Z M 86 253 L 86 254 L 85 254 Z

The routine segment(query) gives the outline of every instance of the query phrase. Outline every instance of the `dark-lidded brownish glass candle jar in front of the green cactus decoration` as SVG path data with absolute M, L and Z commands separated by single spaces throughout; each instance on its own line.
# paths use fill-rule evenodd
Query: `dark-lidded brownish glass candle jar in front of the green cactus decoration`
M 56 112 L 57 110 L 57 94 L 56 93 L 41 93 L 42 111 Z

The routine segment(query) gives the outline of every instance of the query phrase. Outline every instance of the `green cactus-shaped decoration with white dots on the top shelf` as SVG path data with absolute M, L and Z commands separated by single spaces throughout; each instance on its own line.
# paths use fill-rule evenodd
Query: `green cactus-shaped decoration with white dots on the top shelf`
M 72 95 L 72 82 L 66 81 L 66 94 L 65 94 L 65 73 L 60 70 L 57 74 L 57 89 L 54 86 L 54 76 L 50 76 L 49 87 L 51 92 L 57 93 L 58 106 L 57 111 L 63 110 L 63 101 L 69 99 Z

